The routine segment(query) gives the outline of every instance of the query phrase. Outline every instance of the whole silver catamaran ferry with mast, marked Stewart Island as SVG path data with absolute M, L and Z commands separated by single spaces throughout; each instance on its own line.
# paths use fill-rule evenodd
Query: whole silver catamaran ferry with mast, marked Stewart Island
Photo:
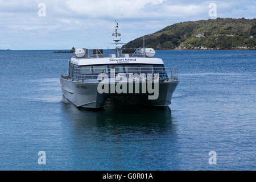
M 63 96 L 76 107 L 98 108 L 112 96 L 124 96 L 136 104 L 165 107 L 171 104 L 179 80 L 177 67 L 164 67 L 152 48 L 121 48 L 118 23 L 112 54 L 103 49 L 76 49 L 61 75 Z

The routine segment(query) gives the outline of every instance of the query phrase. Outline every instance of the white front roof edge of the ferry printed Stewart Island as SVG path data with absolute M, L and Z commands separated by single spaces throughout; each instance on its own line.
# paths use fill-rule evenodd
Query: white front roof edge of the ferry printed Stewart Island
M 102 58 L 77 58 L 71 57 L 71 63 L 79 66 L 98 64 L 164 64 L 163 60 L 155 57 L 102 57 Z

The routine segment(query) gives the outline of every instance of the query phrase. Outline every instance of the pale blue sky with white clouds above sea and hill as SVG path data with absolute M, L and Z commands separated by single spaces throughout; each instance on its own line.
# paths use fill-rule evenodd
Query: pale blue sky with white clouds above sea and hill
M 174 23 L 217 17 L 256 18 L 256 1 L 0 0 L 0 49 L 113 48 L 115 20 L 127 43 Z

